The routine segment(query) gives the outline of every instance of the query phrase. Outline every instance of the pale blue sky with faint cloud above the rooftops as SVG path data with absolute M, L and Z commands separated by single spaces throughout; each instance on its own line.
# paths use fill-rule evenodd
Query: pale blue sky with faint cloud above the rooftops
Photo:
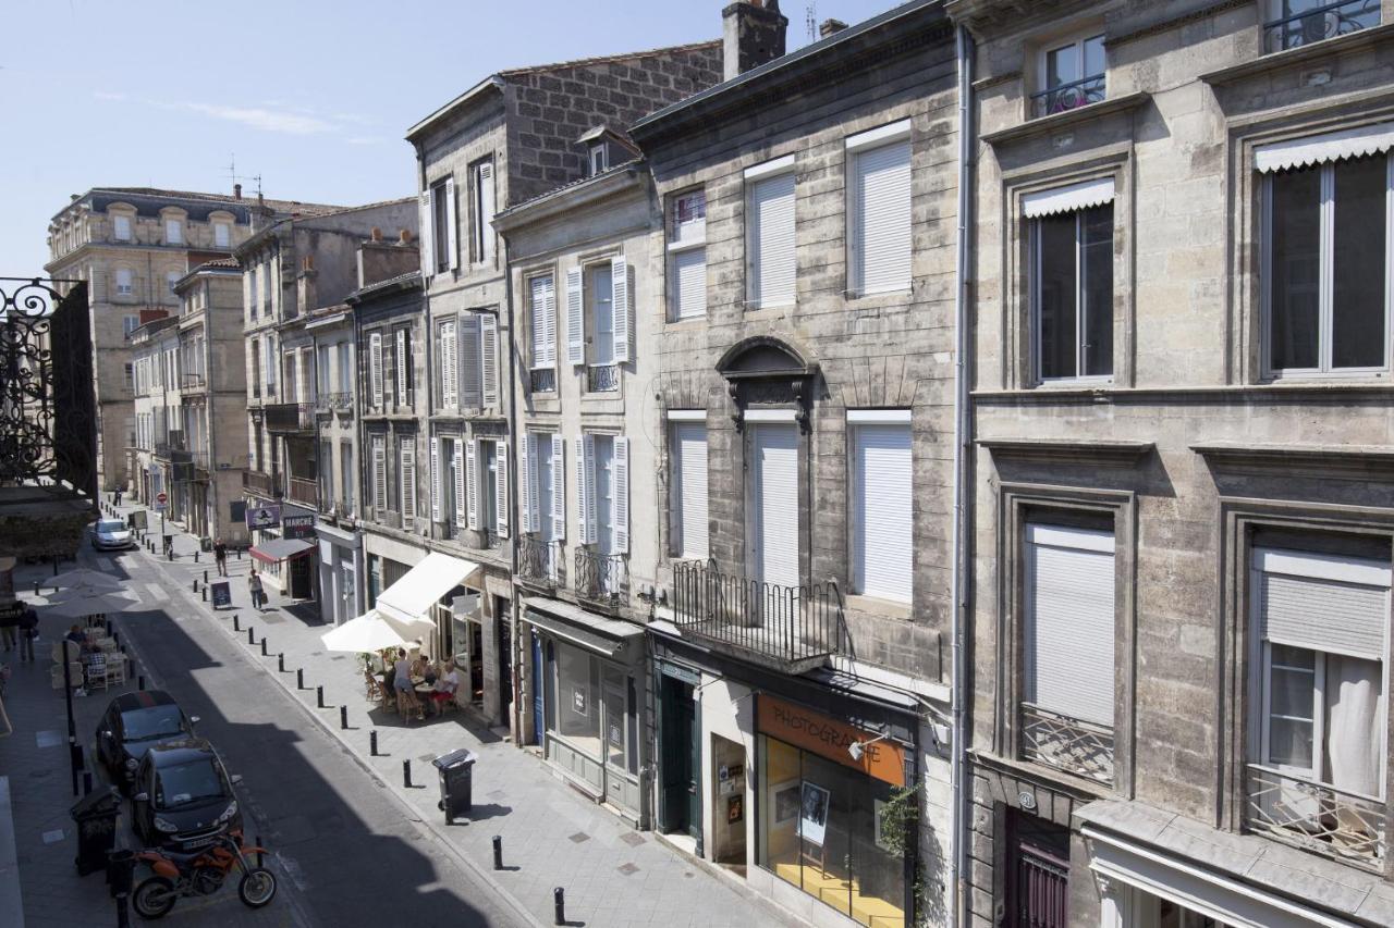
M 0 276 L 40 274 L 93 185 L 361 203 L 414 192 L 407 127 L 507 67 L 721 35 L 725 0 L 0 0 Z M 859 22 L 898 0 L 817 0 Z M 783 0 L 789 50 L 809 0 Z

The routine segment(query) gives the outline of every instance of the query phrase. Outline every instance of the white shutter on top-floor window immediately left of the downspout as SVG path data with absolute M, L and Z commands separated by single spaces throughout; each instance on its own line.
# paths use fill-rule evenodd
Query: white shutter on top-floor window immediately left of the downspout
M 859 293 L 910 286 L 910 141 L 852 160 L 853 276 Z

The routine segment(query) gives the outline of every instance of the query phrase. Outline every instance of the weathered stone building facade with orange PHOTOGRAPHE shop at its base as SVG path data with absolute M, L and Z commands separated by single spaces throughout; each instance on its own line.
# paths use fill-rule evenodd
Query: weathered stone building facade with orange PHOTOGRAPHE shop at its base
M 949 924 L 953 31 L 910 3 L 769 60 L 769 14 L 728 7 L 737 74 L 630 128 L 664 226 L 658 829 L 813 924 Z

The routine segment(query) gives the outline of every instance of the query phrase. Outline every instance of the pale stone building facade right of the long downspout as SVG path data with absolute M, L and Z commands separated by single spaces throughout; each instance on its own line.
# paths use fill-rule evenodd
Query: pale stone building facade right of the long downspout
M 948 10 L 965 924 L 1390 924 L 1391 7 Z

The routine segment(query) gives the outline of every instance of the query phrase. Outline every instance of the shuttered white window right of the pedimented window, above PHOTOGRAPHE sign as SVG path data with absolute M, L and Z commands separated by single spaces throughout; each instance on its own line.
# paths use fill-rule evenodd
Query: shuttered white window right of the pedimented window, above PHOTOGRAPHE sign
M 852 589 L 909 603 L 914 570 L 907 410 L 849 410 Z

